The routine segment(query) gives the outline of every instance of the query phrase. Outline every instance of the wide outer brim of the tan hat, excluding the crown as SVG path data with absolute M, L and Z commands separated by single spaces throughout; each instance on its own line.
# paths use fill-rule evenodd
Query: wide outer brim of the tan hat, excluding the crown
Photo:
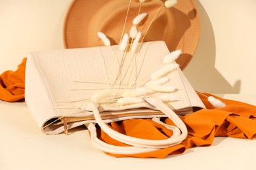
M 110 1 L 112 0 L 95 0 L 95 4 L 100 4 L 100 7 L 103 7 Z M 95 4 L 84 0 L 72 2 L 64 20 L 64 48 L 84 48 L 95 45 L 84 41 L 87 38 L 89 22 L 97 10 Z M 194 56 L 198 46 L 200 16 L 193 0 L 178 0 L 178 3 L 171 10 L 175 18 L 175 37 L 172 37 L 170 43 L 167 42 L 167 46 L 170 51 L 182 50 L 177 63 L 181 69 L 184 69 Z M 161 39 L 154 41 L 161 41 Z

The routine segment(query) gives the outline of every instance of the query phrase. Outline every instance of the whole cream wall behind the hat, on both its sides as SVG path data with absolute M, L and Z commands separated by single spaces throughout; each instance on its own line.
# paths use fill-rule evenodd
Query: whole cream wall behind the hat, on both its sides
M 256 1 L 195 0 L 202 22 L 198 50 L 184 73 L 195 90 L 256 93 Z M 71 0 L 0 0 L 0 72 L 30 51 L 63 48 Z

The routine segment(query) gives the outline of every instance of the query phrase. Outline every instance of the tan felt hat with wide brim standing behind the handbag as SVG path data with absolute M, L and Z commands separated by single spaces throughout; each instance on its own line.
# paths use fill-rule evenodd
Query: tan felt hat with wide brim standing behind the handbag
M 110 39 L 112 45 L 119 44 L 129 3 L 129 0 L 74 0 L 64 21 L 65 48 L 103 46 L 96 34 L 99 31 Z M 131 0 L 124 32 L 129 33 L 133 19 L 140 11 L 148 14 L 137 27 L 143 35 L 159 10 L 143 41 L 165 41 L 170 51 L 181 49 L 177 63 L 184 69 L 198 46 L 198 9 L 193 0 L 178 0 L 170 9 L 165 8 L 164 3 L 165 0 L 146 0 L 144 3 Z

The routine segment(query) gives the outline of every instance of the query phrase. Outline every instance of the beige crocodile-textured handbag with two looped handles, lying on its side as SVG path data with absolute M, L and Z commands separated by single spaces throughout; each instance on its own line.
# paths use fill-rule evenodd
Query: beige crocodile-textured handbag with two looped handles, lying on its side
M 204 108 L 192 86 L 168 61 L 165 42 L 143 42 L 139 52 L 118 46 L 97 46 L 32 52 L 26 63 L 26 103 L 37 125 L 47 135 L 86 125 L 95 146 L 106 152 L 134 154 L 181 143 L 186 126 L 177 114 Z M 131 118 L 169 117 L 176 126 L 165 140 L 127 137 L 106 126 Z M 118 147 L 96 138 L 98 124 L 110 137 L 132 145 Z

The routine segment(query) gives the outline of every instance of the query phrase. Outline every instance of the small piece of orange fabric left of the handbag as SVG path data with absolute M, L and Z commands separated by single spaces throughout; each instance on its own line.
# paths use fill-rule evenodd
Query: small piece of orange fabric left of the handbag
M 16 71 L 5 71 L 0 75 L 1 100 L 24 101 L 26 61 L 24 58 Z

